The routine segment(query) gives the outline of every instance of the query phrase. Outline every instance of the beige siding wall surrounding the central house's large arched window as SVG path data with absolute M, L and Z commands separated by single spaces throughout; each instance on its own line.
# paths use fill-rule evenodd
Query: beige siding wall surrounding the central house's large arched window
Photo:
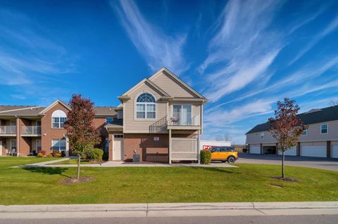
M 136 99 L 141 93 L 151 93 L 156 98 L 156 119 L 136 119 Z M 124 110 L 124 129 L 125 133 L 151 133 L 151 126 L 156 125 L 156 121 L 163 119 L 167 115 L 167 103 L 158 98 L 161 95 L 148 84 L 142 84 L 139 88 L 130 93 L 130 100 L 123 104 Z M 160 131 L 158 133 L 167 133 Z

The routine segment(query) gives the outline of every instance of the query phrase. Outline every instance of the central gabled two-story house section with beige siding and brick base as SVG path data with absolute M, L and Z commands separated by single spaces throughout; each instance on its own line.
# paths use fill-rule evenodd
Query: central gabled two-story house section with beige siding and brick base
M 199 160 L 203 95 L 163 67 L 118 99 L 118 119 L 106 125 L 109 160 Z

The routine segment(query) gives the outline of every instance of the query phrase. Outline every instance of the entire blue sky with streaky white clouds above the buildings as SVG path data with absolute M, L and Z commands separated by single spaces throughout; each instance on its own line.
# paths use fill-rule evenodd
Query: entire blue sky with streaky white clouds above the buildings
M 1 1 L 0 104 L 96 105 L 167 67 L 210 101 L 204 139 L 244 133 L 284 97 L 338 101 L 338 1 Z

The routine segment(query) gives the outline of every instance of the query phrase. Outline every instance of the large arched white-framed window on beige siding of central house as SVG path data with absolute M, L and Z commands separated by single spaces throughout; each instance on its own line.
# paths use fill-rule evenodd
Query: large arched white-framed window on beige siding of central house
M 136 117 L 144 119 L 156 118 L 156 100 L 150 93 L 142 93 L 136 100 Z

